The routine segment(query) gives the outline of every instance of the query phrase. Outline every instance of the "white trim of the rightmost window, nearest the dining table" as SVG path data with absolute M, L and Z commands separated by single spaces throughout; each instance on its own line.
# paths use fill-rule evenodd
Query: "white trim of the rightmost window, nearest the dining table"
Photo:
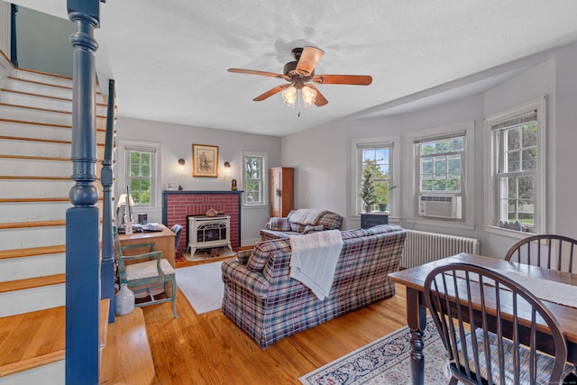
M 493 151 L 491 126 L 500 121 L 513 118 L 526 113 L 527 111 L 537 111 L 537 173 L 536 173 L 536 231 L 545 234 L 547 231 L 547 206 L 546 206 L 546 104 L 547 97 L 541 96 L 530 100 L 522 105 L 509 108 L 506 111 L 487 116 L 484 124 L 484 168 L 485 168 L 485 217 L 484 228 L 492 234 L 508 236 L 510 238 L 525 238 L 527 233 L 521 233 L 494 225 L 495 219 L 495 186 L 493 170 L 495 167 L 495 156 Z

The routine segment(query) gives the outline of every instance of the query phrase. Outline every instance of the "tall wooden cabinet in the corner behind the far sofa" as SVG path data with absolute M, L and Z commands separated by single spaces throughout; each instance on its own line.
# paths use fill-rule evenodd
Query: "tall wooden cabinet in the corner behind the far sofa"
M 270 216 L 284 217 L 293 208 L 295 171 L 292 167 L 270 169 Z

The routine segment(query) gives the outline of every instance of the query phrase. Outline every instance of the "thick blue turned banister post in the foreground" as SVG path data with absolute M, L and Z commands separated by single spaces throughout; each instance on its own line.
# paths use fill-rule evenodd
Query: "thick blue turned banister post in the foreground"
M 72 203 L 66 212 L 66 383 L 98 384 L 100 252 L 96 180 L 96 66 L 98 0 L 68 0 L 75 32 L 72 92 Z

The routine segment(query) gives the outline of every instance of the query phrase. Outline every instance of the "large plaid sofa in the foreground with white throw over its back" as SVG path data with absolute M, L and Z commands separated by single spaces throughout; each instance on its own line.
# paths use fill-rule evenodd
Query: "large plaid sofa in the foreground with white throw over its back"
M 336 316 L 389 298 L 405 231 L 398 225 L 341 232 L 343 249 L 329 296 L 321 301 L 289 277 L 289 239 L 257 243 L 223 262 L 223 313 L 262 348 Z

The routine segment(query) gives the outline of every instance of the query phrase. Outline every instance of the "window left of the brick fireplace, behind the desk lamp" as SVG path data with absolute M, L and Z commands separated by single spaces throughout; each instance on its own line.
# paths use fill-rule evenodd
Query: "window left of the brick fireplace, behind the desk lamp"
M 122 141 L 119 143 L 122 156 L 120 164 L 118 194 L 130 186 L 134 206 L 159 206 L 158 161 L 160 144 L 149 142 Z

